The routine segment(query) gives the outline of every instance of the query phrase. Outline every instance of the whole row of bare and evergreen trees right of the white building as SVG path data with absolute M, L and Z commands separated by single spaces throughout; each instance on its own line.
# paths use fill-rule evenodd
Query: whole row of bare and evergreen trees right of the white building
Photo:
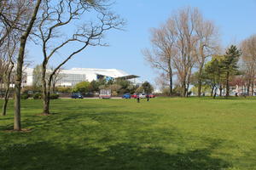
M 168 86 L 169 95 L 188 96 L 192 84 L 198 97 L 206 86 L 212 89 L 212 95 L 217 91 L 221 95 L 225 90 L 229 96 L 230 84 L 237 75 L 241 75 L 247 88 L 253 88 L 256 36 L 241 42 L 240 47 L 231 45 L 224 53 L 218 28 L 198 8 L 177 10 L 165 24 L 151 30 L 150 42 L 152 47 L 144 49 L 143 55 L 149 65 L 160 71 L 157 83 L 163 88 Z

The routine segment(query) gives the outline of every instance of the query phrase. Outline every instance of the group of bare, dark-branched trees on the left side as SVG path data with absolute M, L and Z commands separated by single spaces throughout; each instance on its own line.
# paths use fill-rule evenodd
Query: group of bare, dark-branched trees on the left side
M 48 115 L 50 87 L 61 66 L 89 46 L 107 45 L 102 42 L 104 33 L 124 25 L 124 20 L 113 14 L 110 6 L 108 0 L 0 1 L 0 64 L 8 65 L 5 66 L 8 73 L 15 65 L 15 130 L 21 130 L 20 91 L 27 41 L 32 40 L 42 48 L 43 113 Z M 69 53 L 63 53 L 68 47 Z M 55 63 L 46 78 L 49 63 L 58 54 L 62 59 L 60 63 Z M 1 76 L 1 79 L 8 73 L 4 72 L 5 76 Z M 10 77 L 7 77 L 8 80 L 3 82 L 9 82 Z M 5 94 L 8 96 L 8 93 Z

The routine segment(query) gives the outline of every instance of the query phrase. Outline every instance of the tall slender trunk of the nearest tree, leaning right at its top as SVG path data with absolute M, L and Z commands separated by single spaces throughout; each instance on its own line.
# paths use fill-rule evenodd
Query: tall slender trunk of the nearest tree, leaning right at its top
M 15 127 L 14 130 L 21 130 L 21 122 L 20 122 L 20 90 L 21 90 L 21 81 L 22 81 L 22 66 L 24 62 L 24 53 L 26 48 L 26 39 L 32 30 L 32 26 L 34 21 L 36 20 L 38 14 L 38 8 L 41 4 L 41 0 L 38 0 L 32 18 L 29 22 L 29 25 L 26 28 L 26 31 L 20 37 L 20 50 L 17 59 L 17 68 L 16 68 L 16 77 L 15 77 Z

